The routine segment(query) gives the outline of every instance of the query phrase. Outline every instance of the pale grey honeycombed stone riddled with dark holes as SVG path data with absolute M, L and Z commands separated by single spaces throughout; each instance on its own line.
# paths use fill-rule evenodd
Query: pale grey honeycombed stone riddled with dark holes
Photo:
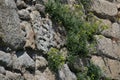
M 53 37 L 52 23 L 50 20 L 41 19 L 38 11 L 31 14 L 32 25 L 36 33 L 36 46 L 39 50 L 48 51 Z

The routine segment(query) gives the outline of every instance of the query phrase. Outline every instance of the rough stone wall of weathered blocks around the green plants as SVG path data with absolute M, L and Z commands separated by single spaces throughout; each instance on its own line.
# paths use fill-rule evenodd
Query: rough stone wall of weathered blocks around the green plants
M 88 58 L 76 58 L 72 65 L 65 63 L 57 75 L 49 69 L 48 50 L 55 47 L 65 55 L 67 50 L 66 31 L 45 13 L 46 1 L 0 1 L 0 80 L 77 80 L 73 72 L 89 63 Z M 120 1 L 93 0 L 89 11 L 108 26 L 95 35 L 97 53 L 90 60 L 105 76 L 120 80 Z

